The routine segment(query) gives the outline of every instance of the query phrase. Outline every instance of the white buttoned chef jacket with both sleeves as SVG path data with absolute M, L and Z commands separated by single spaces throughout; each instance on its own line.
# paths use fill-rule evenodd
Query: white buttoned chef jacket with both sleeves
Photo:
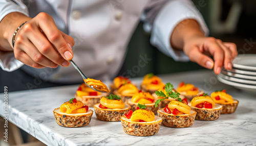
M 182 51 L 173 50 L 169 43 L 175 26 L 184 19 L 199 22 L 205 35 L 207 26 L 202 15 L 188 0 L 0 0 L 0 20 L 11 12 L 34 17 L 40 12 L 50 14 L 59 30 L 75 39 L 73 61 L 89 78 L 109 80 L 123 64 L 126 45 L 139 20 L 144 30 L 151 32 L 151 43 L 176 61 L 188 61 Z M 0 66 L 13 71 L 24 64 L 13 53 L 0 52 Z M 75 68 L 37 69 L 22 67 L 34 77 L 56 83 L 81 82 Z

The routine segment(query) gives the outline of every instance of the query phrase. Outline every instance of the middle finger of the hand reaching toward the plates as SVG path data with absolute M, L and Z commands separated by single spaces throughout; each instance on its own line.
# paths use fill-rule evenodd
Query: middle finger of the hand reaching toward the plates
M 232 69 L 232 56 L 231 56 L 231 51 L 223 44 L 223 42 L 220 39 L 217 39 L 217 43 L 221 47 L 221 49 L 224 51 L 224 68 L 227 70 Z

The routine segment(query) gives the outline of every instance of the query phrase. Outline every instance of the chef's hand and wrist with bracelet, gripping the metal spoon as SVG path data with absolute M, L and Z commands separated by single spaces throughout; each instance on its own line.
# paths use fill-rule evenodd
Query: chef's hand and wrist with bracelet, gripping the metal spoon
M 58 65 L 70 64 L 68 60 L 73 58 L 71 46 L 75 43 L 74 39 L 58 30 L 50 15 L 39 13 L 34 18 L 30 18 L 15 13 L 8 14 L 2 20 L 3 24 L 0 26 L 2 30 L 5 24 L 9 25 L 6 28 L 8 35 L 5 36 L 9 45 L 4 45 L 5 47 L 2 45 L 1 48 L 4 48 L 2 51 L 12 51 L 13 33 L 20 24 L 27 21 L 15 37 L 13 48 L 15 58 L 35 68 L 55 68 Z M 13 15 L 19 15 L 19 17 L 14 19 Z

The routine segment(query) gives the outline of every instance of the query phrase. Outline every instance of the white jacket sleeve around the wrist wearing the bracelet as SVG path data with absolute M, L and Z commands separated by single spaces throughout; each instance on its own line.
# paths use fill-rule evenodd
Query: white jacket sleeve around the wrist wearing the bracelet
M 29 15 L 28 8 L 21 1 L 0 0 L 0 22 L 7 14 L 12 12 Z M 0 67 L 3 70 L 14 71 L 23 65 L 22 62 L 15 59 L 13 52 L 0 51 Z

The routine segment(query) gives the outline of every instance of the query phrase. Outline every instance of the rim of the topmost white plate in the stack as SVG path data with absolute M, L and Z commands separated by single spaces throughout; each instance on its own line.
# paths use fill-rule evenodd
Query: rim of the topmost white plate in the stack
M 254 66 L 238 64 L 241 59 L 255 59 L 256 60 L 256 54 L 241 54 L 241 55 L 238 55 L 232 61 L 232 66 L 234 68 L 256 71 L 256 67 L 254 67 Z

